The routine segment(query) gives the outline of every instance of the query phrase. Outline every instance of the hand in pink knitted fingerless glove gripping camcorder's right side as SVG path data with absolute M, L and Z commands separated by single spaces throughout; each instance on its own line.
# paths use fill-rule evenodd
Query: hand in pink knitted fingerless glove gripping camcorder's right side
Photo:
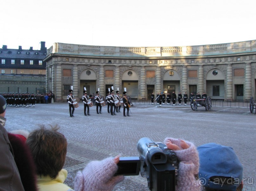
M 180 161 L 175 191 L 200 191 L 199 180 L 195 178 L 199 170 L 199 158 L 194 144 L 174 138 L 166 138 L 164 144 L 177 154 Z

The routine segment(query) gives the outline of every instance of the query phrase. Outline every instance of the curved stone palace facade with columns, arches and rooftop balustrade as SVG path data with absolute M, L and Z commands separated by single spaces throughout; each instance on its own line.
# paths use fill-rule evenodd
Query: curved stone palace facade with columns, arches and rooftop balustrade
M 46 89 L 56 101 L 83 88 L 105 96 L 124 87 L 131 98 L 149 99 L 152 92 L 206 92 L 212 99 L 247 101 L 255 97 L 256 40 L 181 47 L 113 47 L 54 43 L 43 59 Z

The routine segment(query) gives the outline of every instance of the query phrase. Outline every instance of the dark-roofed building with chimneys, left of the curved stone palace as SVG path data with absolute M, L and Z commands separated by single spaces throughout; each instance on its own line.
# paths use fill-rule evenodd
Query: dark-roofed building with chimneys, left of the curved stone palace
M 0 92 L 1 93 L 45 93 L 46 57 L 45 42 L 40 50 L 0 49 Z

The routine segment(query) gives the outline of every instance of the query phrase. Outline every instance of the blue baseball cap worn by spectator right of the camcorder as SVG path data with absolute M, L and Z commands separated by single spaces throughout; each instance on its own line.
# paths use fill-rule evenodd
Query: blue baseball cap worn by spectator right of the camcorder
M 218 190 L 236 191 L 242 182 L 243 166 L 232 147 L 207 143 L 197 147 L 201 185 Z M 218 177 L 222 177 L 218 179 Z M 213 179 L 210 179 L 214 177 Z M 225 179 L 225 183 L 222 181 Z

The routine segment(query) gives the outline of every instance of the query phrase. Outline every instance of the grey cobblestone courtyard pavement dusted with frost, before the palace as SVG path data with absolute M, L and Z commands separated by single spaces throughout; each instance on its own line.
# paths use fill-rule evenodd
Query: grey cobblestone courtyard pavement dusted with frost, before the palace
M 67 103 L 36 104 L 36 107 L 7 107 L 6 129 L 37 128 L 36 124 L 59 124 L 60 131 L 68 140 L 65 169 L 69 175 L 66 184 L 73 188 L 78 170 L 91 160 L 108 156 L 138 156 L 136 144 L 142 137 L 163 141 L 166 137 L 182 138 L 199 146 L 216 142 L 232 146 L 244 166 L 244 191 L 256 190 L 255 179 L 255 121 L 256 114 L 247 108 L 217 108 L 205 111 L 190 105 L 134 105 L 129 117 L 123 113 L 111 116 L 107 106 L 102 114 L 96 114 L 95 105 L 90 107 L 91 116 L 83 115 L 83 104 L 75 109 L 75 117 L 69 117 Z M 121 108 L 122 111 L 122 108 Z M 253 184 L 252 184 L 253 182 Z M 127 176 L 115 191 L 148 191 L 146 178 Z

